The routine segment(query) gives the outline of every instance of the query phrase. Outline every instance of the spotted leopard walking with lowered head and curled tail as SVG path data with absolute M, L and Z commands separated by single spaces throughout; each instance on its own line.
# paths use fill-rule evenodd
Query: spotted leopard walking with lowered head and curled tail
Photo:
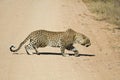
M 27 41 L 29 41 L 29 44 L 25 45 L 24 48 L 28 55 L 33 54 L 30 50 L 34 50 L 36 54 L 39 54 L 38 48 L 50 46 L 60 48 L 61 54 L 64 57 L 69 56 L 69 54 L 65 53 L 65 49 L 74 52 L 74 56 L 78 57 L 79 51 L 74 47 L 74 44 L 77 43 L 85 47 L 91 45 L 91 41 L 86 35 L 76 32 L 71 28 L 59 32 L 40 29 L 31 32 L 25 40 L 19 44 L 18 48 L 11 45 L 10 51 L 17 52 Z

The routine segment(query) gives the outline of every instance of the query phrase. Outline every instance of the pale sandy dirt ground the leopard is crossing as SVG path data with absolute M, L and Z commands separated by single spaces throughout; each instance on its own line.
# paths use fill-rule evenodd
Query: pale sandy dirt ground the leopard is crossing
M 0 0 L 0 80 L 120 80 L 118 36 L 92 16 L 82 0 Z M 75 45 L 80 57 L 62 57 L 51 47 L 39 49 L 42 55 L 9 51 L 34 30 L 68 28 L 92 41 L 88 48 Z

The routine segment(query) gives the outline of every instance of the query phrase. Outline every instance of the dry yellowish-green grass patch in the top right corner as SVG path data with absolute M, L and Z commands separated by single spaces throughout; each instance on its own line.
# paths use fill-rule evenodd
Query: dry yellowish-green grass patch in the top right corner
M 83 0 L 89 10 L 96 13 L 97 20 L 105 20 L 120 28 L 120 0 Z M 118 29 L 119 29 L 118 28 Z

